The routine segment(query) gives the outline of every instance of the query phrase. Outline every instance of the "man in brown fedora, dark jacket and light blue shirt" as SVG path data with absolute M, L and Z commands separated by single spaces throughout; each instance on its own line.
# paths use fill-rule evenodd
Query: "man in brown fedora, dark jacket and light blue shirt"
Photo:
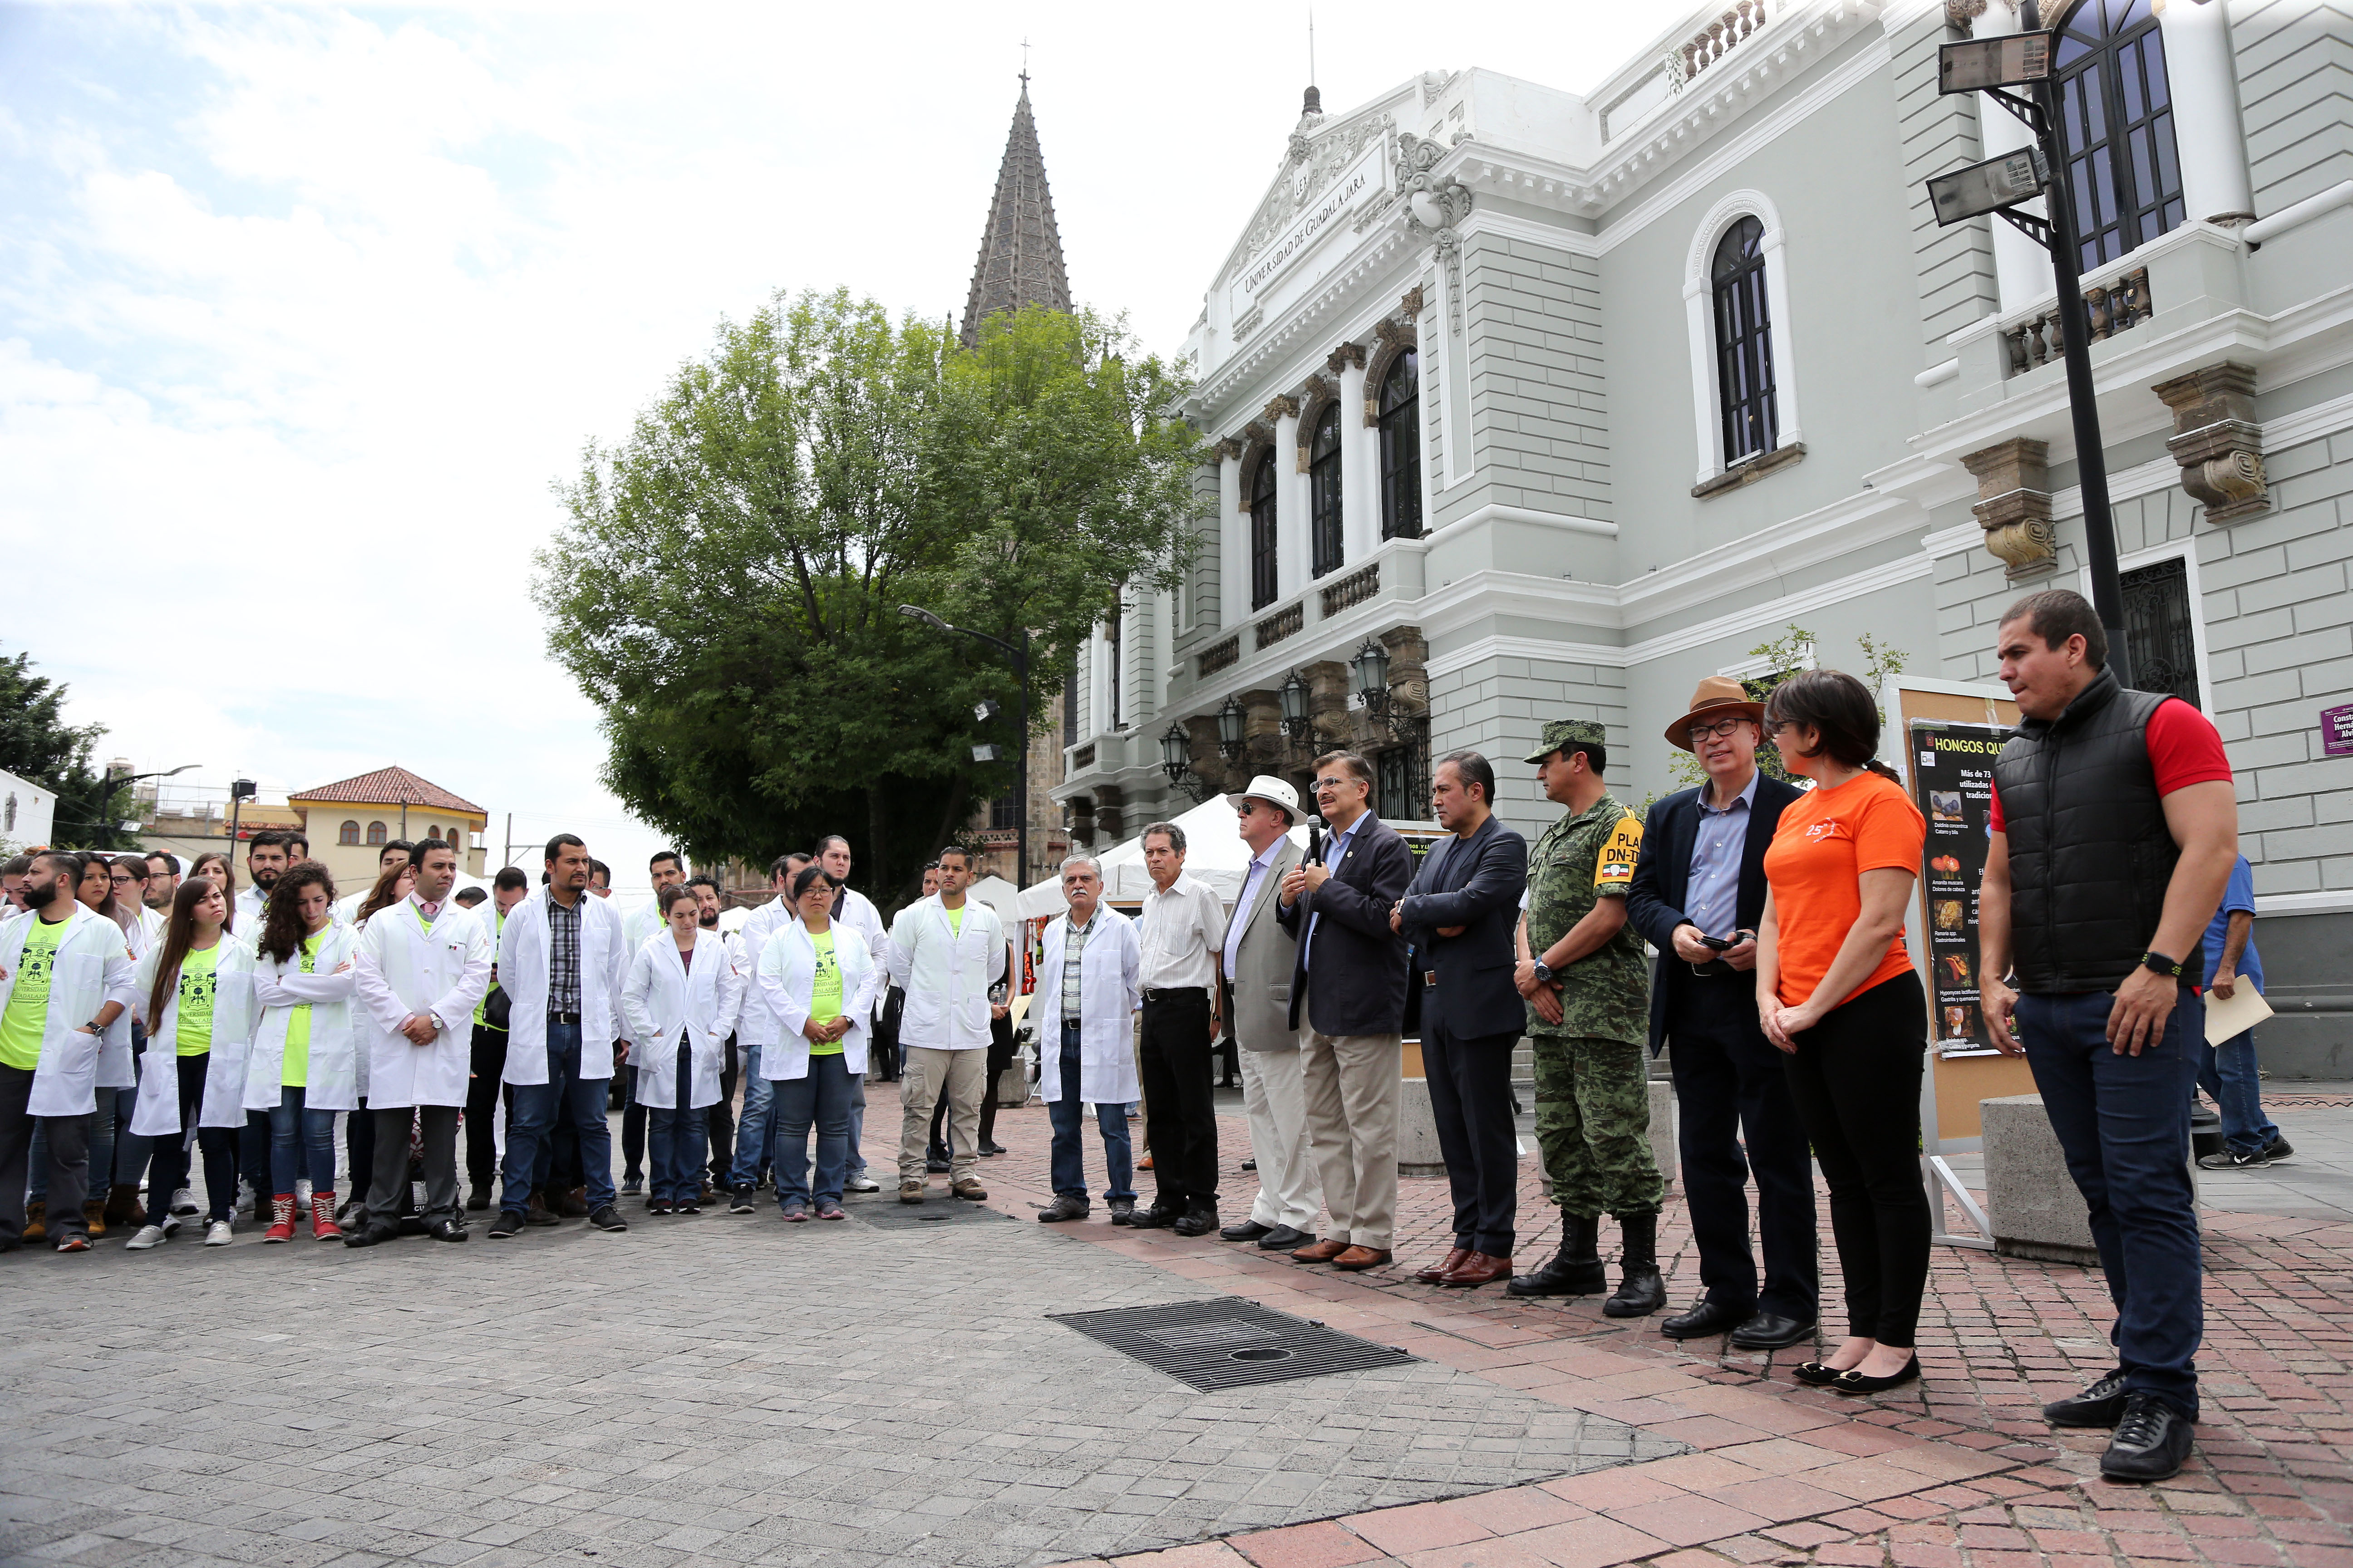
M 1628 919 L 1659 950 L 1649 1048 L 1673 1046 L 1682 1192 L 1704 1286 L 1701 1300 L 1664 1319 L 1659 1333 L 1697 1340 L 1729 1331 L 1741 1349 L 1812 1338 L 1819 1302 L 1814 1166 L 1755 1006 L 1765 846 L 1781 809 L 1798 799 L 1798 790 L 1758 771 L 1762 717 L 1737 679 L 1699 682 L 1692 710 L 1666 726 L 1666 741 L 1694 752 L 1708 783 L 1649 809 L 1626 893 Z M 1762 1291 L 1748 1253 L 1751 1171 Z

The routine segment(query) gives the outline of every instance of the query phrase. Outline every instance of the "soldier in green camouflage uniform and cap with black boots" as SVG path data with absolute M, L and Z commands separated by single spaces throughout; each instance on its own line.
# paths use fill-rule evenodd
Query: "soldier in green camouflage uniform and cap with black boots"
M 1619 1222 L 1624 1274 L 1602 1312 L 1647 1316 L 1659 1279 L 1664 1182 L 1649 1157 L 1649 973 L 1626 922 L 1642 820 L 1602 783 L 1605 731 L 1593 719 L 1544 726 L 1544 795 L 1567 809 L 1527 856 L 1515 983 L 1537 1056 L 1537 1145 L 1560 1204 L 1560 1253 L 1511 1281 L 1513 1295 L 1598 1295 L 1609 1279 L 1600 1215 Z

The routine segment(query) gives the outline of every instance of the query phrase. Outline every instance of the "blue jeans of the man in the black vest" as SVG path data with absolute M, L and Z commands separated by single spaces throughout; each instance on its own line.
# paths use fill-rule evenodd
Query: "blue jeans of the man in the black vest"
M 2019 997 L 2019 1037 L 2066 1168 L 2092 1211 L 2092 1241 L 2115 1300 L 2115 1359 L 2127 1394 L 2153 1394 L 2198 1420 L 2205 1333 L 2198 1190 L 2191 1185 L 2188 1048 L 2205 1001 L 2184 990 L 2162 1037 L 2139 1056 L 2106 1039 L 2106 992 Z

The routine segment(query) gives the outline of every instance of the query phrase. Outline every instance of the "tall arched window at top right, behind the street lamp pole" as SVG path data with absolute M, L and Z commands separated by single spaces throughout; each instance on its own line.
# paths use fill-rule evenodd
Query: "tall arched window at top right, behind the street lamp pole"
M 2139 249 L 2184 216 L 2174 94 L 2151 0 L 2085 0 L 2059 24 L 2059 148 L 2078 268 Z

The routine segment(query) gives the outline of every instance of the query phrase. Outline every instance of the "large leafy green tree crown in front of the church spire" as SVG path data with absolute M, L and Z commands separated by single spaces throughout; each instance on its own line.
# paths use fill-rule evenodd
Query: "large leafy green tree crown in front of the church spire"
M 969 350 L 847 292 L 720 322 L 628 440 L 588 444 L 539 552 L 607 785 L 696 858 L 842 832 L 868 886 L 913 886 L 1012 788 L 1016 693 L 1002 656 L 899 604 L 1028 628 L 1035 717 L 1122 585 L 1181 578 L 1198 437 L 1165 411 L 1184 393 L 1092 313 L 998 315 Z M 972 762 L 979 738 L 1007 759 Z

